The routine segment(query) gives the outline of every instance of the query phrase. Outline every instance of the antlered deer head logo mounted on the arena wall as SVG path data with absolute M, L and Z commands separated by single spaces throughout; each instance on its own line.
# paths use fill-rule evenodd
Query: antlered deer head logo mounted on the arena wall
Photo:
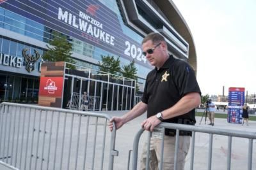
M 40 54 L 38 51 L 34 50 L 35 56 L 34 55 L 28 55 L 27 54 L 28 48 L 24 48 L 22 50 L 22 55 L 24 59 L 26 60 L 26 70 L 30 73 L 35 69 L 35 62 L 40 58 Z

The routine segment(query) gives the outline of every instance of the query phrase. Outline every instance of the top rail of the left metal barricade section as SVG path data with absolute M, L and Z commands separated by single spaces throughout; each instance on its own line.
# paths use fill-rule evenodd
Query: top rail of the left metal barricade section
M 108 120 L 111 119 L 111 117 L 107 114 L 104 113 L 95 113 L 95 112 L 90 112 L 90 111 L 77 111 L 77 110 L 68 110 L 64 108 L 52 108 L 52 107 L 46 107 L 46 106 L 36 106 L 36 105 L 31 105 L 31 104 L 20 104 L 20 103 L 7 103 L 3 102 L 0 104 L 0 107 L 3 105 L 8 105 L 8 106 L 18 106 L 22 108 L 33 108 L 35 110 L 51 110 L 51 111 L 60 111 L 60 112 L 65 112 L 65 113 L 70 113 L 70 114 L 77 114 L 77 115 L 83 115 L 86 113 L 88 116 L 93 116 L 93 117 L 100 117 L 100 118 L 107 118 Z

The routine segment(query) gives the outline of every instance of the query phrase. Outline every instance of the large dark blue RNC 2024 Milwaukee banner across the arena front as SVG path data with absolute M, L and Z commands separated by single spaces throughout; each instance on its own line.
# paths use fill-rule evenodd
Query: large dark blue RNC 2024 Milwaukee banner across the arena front
M 141 44 L 126 35 L 115 12 L 99 1 L 6 0 L 2 8 L 110 53 L 152 68 Z

